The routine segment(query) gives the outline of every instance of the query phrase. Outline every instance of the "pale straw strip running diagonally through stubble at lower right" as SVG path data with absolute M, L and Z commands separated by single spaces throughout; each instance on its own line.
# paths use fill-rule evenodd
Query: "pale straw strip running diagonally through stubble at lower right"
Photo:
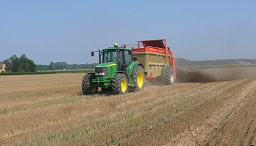
M 212 112 L 211 116 L 207 117 L 206 120 L 198 123 L 197 126 L 189 127 L 184 132 L 170 139 L 170 142 L 167 142 L 166 145 L 209 145 L 208 140 L 210 139 L 211 141 L 211 137 L 214 136 L 214 133 L 218 132 L 227 120 L 232 118 L 250 98 L 255 96 L 253 93 L 255 93 L 256 82 L 252 82 L 250 85 L 247 85 L 247 87 L 246 91 L 238 92 L 236 95 L 233 95 L 233 99 L 227 101 L 217 111 Z M 252 122 L 249 125 L 251 126 Z M 247 131 L 249 131 L 250 126 L 247 128 Z M 246 134 L 248 134 L 248 132 L 246 132 Z M 254 137 L 251 139 L 254 139 Z

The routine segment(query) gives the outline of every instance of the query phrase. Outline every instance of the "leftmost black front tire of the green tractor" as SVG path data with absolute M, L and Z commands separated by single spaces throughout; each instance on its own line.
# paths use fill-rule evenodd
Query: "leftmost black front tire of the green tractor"
M 92 94 L 92 93 L 97 93 L 98 88 L 97 87 L 92 87 L 92 79 L 95 78 L 95 74 L 86 74 L 83 77 L 82 81 L 82 91 L 83 95 L 86 94 Z

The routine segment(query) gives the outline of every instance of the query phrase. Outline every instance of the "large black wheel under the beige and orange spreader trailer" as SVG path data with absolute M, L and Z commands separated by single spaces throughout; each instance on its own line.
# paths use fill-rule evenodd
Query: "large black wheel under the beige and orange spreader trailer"
M 174 80 L 173 66 L 165 65 L 162 67 L 161 80 L 164 85 L 174 84 L 175 80 Z

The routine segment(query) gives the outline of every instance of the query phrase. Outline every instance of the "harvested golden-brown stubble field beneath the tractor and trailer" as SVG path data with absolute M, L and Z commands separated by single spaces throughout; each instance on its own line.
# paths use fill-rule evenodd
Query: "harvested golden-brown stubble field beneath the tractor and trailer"
M 84 74 L 0 76 L 0 145 L 256 145 L 256 68 L 81 95 Z

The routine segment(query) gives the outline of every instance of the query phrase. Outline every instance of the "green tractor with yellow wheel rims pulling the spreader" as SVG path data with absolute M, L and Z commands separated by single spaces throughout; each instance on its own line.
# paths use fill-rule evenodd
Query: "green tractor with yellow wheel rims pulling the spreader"
M 131 48 L 108 47 L 99 50 L 99 64 L 94 73 L 86 74 L 82 81 L 83 95 L 112 91 L 114 94 L 129 91 L 141 91 L 144 87 L 145 74 L 143 64 L 135 61 Z M 94 52 L 91 52 L 94 56 Z M 101 61 L 102 60 L 102 61 Z

